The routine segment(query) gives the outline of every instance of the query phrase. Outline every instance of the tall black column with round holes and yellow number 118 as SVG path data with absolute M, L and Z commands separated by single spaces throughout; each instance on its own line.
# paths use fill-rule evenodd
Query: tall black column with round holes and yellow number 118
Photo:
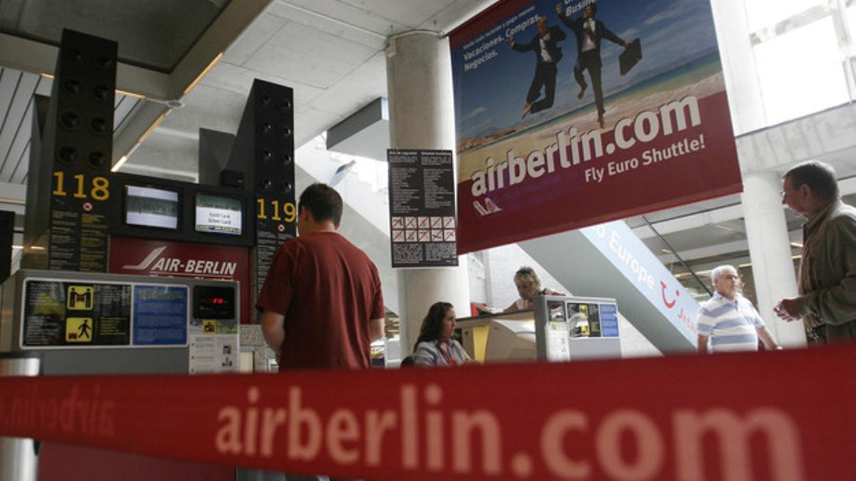
M 107 271 L 116 50 L 116 42 L 62 31 L 41 145 L 52 176 L 51 270 Z

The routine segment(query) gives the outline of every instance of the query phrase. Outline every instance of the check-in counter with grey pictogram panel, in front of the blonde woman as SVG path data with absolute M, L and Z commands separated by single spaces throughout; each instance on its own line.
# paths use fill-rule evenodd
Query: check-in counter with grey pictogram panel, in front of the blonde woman
M 539 295 L 532 306 L 458 319 L 461 344 L 484 363 L 621 358 L 614 299 Z

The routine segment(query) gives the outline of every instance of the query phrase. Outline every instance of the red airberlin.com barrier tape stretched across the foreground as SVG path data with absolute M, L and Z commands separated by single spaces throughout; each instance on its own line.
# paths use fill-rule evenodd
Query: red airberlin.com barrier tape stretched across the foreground
M 348 478 L 853 479 L 854 364 L 845 346 L 454 369 L 0 377 L 0 436 Z

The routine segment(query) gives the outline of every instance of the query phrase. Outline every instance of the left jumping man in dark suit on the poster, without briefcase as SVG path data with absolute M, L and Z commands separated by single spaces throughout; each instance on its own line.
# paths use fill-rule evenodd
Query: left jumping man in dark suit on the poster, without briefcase
M 559 27 L 547 27 L 547 18 L 538 19 L 538 34 L 532 37 L 528 44 L 515 44 L 514 35 L 508 37 L 511 48 L 520 52 L 534 50 L 538 56 L 538 64 L 535 66 L 535 77 L 526 94 L 526 104 L 523 104 L 523 116 L 549 109 L 553 106 L 553 98 L 556 94 L 556 74 L 558 69 L 556 63 L 562 60 L 562 47 L 556 45 L 566 39 L 567 35 Z M 541 87 L 544 86 L 544 98 L 538 100 L 541 95 Z

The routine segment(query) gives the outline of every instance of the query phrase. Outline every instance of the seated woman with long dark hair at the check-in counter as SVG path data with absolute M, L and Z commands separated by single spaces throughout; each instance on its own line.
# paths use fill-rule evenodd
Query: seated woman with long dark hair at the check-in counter
M 419 339 L 413 347 L 415 365 L 462 365 L 475 363 L 461 343 L 452 338 L 455 333 L 455 308 L 448 302 L 435 302 L 422 320 Z

